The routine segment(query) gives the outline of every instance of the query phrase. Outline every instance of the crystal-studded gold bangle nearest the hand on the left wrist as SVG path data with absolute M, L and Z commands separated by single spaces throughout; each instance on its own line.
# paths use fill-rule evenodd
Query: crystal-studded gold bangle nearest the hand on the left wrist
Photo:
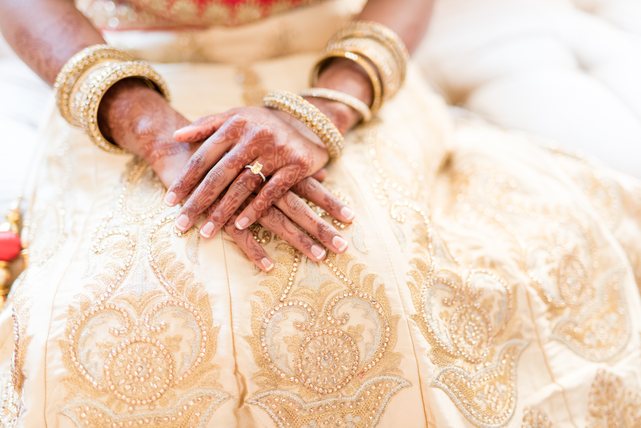
M 144 62 L 104 61 L 90 67 L 71 92 L 69 112 L 72 123 L 78 123 L 96 146 L 109 153 L 128 153 L 103 137 L 97 112 L 104 93 L 117 81 L 137 77 L 158 90 L 169 101 L 169 90 L 160 75 Z

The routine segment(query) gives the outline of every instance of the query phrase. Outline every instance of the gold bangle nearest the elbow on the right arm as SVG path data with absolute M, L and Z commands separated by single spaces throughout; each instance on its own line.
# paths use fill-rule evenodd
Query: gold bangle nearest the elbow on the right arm
M 401 83 L 403 83 L 405 80 L 407 62 L 410 59 L 410 53 L 408 53 L 403 40 L 401 40 L 394 31 L 379 22 L 351 21 L 348 22 L 342 30 L 336 33 L 331 42 L 337 42 L 338 40 L 349 39 L 351 37 L 374 39 L 387 47 L 392 55 L 394 55 L 395 60 L 399 65 Z

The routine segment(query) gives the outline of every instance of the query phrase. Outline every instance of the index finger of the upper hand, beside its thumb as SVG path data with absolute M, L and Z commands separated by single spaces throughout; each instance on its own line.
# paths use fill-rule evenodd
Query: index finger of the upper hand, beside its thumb
M 198 180 L 210 171 L 211 167 L 221 160 L 233 142 L 240 138 L 237 120 L 231 117 L 219 132 L 209 137 L 189 158 L 187 165 L 178 178 L 167 189 L 165 204 L 173 207 L 183 200 L 194 189 Z M 227 162 L 229 162 L 228 156 Z M 215 198 L 214 198 L 215 199 Z

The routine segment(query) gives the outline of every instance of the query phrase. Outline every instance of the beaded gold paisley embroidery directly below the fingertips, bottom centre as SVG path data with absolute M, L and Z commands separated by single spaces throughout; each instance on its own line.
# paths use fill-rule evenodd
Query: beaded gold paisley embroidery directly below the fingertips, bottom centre
M 376 427 L 389 400 L 410 386 L 392 351 L 399 316 L 385 286 L 375 287 L 378 275 L 363 275 L 367 266 L 351 264 L 356 257 L 348 253 L 329 253 L 318 264 L 289 244 L 276 251 L 279 266 L 261 282 L 270 292 L 256 291 L 261 304 L 252 302 L 247 341 L 261 389 L 247 402 L 278 427 Z M 301 270 L 305 277 L 297 279 Z

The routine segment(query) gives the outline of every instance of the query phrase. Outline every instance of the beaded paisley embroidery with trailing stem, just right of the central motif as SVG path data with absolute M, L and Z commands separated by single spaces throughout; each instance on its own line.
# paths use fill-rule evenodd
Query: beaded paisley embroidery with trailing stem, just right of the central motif
M 420 206 L 427 203 L 417 164 L 373 130 L 368 141 L 374 193 L 415 244 L 407 285 L 419 312 L 412 318 L 432 345 L 431 386 L 442 389 L 472 424 L 503 427 L 515 414 L 517 364 L 528 346 L 513 318 L 513 286 L 489 271 L 462 268 Z

